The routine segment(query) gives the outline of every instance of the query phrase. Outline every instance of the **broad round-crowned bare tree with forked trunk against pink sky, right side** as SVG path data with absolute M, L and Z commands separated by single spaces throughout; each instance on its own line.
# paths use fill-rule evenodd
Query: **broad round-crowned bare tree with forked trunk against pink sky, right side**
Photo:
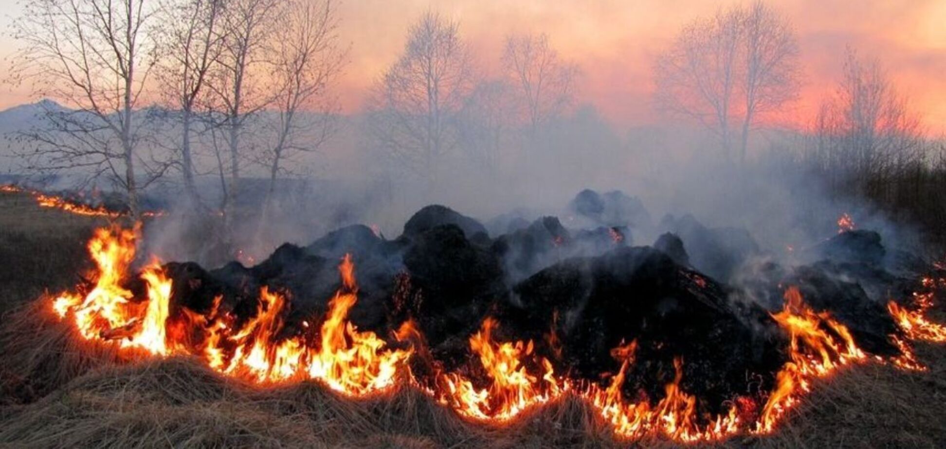
M 760 115 L 797 96 L 797 40 L 762 2 L 735 6 L 684 26 L 654 71 L 657 105 L 712 130 L 730 160 L 733 124 L 740 124 L 738 158 L 745 164 Z

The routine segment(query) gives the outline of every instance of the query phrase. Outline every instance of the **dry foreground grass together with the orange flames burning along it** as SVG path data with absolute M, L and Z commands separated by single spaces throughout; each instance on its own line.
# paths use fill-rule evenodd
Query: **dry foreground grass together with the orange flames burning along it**
M 108 245 L 96 248 L 110 253 Z M 126 269 L 122 265 L 127 264 L 121 261 L 131 261 L 131 255 L 121 255 L 121 248 L 118 245 L 113 249 L 106 261 L 119 262 L 112 268 Z M 477 389 L 461 374 L 446 373 L 438 379 L 441 388 L 447 383 L 447 389 L 431 391 L 429 384 L 418 389 L 417 380 L 397 368 L 403 366 L 410 350 L 385 348 L 383 341 L 373 339 L 373 334 L 360 332 L 345 321 L 347 307 L 357 300 L 350 260 L 342 263 L 344 282 L 321 325 L 321 341 L 307 347 L 307 339 L 294 343 L 291 338 L 273 339 L 280 330 L 276 304 L 282 300 L 271 292 L 261 292 L 254 324 L 236 325 L 217 312 L 202 317 L 206 322 L 201 325 L 206 329 L 232 329 L 225 336 L 231 343 L 226 347 L 227 355 L 215 365 L 206 339 L 196 346 L 176 346 L 181 341 L 156 331 L 167 331 L 168 327 L 151 323 L 152 319 L 168 316 L 170 285 L 157 266 L 144 270 L 148 300 L 132 304 L 129 301 L 135 293 L 121 290 L 117 280 L 102 285 L 101 279 L 108 278 L 102 273 L 109 263 L 98 261 L 96 286 L 86 287 L 78 299 L 63 302 L 61 317 L 52 306 L 53 298 L 44 298 L 4 320 L 0 345 L 10 358 L 3 370 L 2 392 L 7 403 L 17 405 L 6 407 L 0 415 L 0 441 L 30 446 L 113 447 L 154 441 L 182 447 L 514 447 L 611 446 L 627 444 L 627 438 L 662 445 L 738 434 L 725 444 L 817 446 L 824 441 L 845 444 L 847 440 L 838 439 L 851 438 L 873 445 L 870 443 L 877 440 L 858 440 L 849 435 L 865 432 L 859 421 L 849 418 L 851 409 L 855 410 L 853 416 L 869 416 L 867 422 L 875 424 L 916 418 L 901 423 L 893 436 L 885 436 L 883 441 L 889 443 L 922 446 L 941 441 L 944 433 L 942 423 L 931 418 L 941 416 L 937 415 L 942 411 L 941 401 L 935 398 L 946 391 L 946 385 L 938 380 L 942 374 L 940 353 L 933 351 L 940 357 L 930 360 L 921 354 L 920 360 L 931 365 L 930 371 L 923 373 L 867 364 L 828 377 L 835 368 L 865 359 L 866 355 L 856 348 L 843 325 L 807 309 L 797 290 L 789 289 L 785 309 L 775 315 L 790 331 L 795 352 L 780 373 L 784 382 L 770 396 L 761 421 L 736 423 L 736 410 L 721 416 L 715 424 L 698 427 L 691 421 L 692 397 L 678 388 L 679 371 L 667 386 L 663 400 L 653 405 L 629 402 L 621 397 L 619 388 L 614 388 L 620 387 L 620 373 L 611 379 L 610 387 L 571 384 L 556 377 L 547 361 L 543 363 L 534 354 L 531 342 L 496 340 L 491 331 L 499 324 L 489 321 L 469 342 L 483 369 L 489 372 L 491 387 Z M 96 288 L 103 286 L 108 287 L 106 296 L 124 302 L 90 302 L 89 298 L 96 297 Z M 165 308 L 160 306 L 162 301 Z M 113 311 L 125 310 L 126 305 L 131 305 L 133 314 L 111 320 L 103 315 L 110 307 Z M 90 328 L 94 331 L 85 339 L 73 327 L 81 322 L 82 310 L 94 312 L 93 319 L 87 321 L 95 323 Z M 923 310 L 936 313 L 932 302 Z M 63 317 L 69 319 L 62 321 Z M 79 321 L 71 320 L 73 317 Z M 116 329 L 128 335 L 98 340 Z M 367 345 L 364 350 L 358 349 L 359 341 Z M 260 342 L 266 344 L 260 346 Z M 237 356 L 240 348 L 244 355 Z M 288 348 L 296 353 L 287 353 Z M 615 354 L 623 357 L 623 371 L 633 363 L 633 342 L 620 349 Z M 255 359 L 254 351 L 259 353 Z M 393 373 L 379 362 L 385 356 L 393 357 L 389 365 L 394 367 Z M 241 361 L 235 364 L 234 360 Z M 360 360 L 357 368 L 339 365 L 340 361 L 352 360 Z M 373 365 L 376 363 L 380 364 Z M 362 378 L 368 380 L 342 381 L 341 374 L 354 371 L 367 373 Z M 300 372 L 307 374 L 300 376 Z M 379 377 L 384 381 L 371 380 Z M 866 382 L 871 389 L 860 385 Z M 842 393 L 837 392 L 839 389 Z M 810 396 L 804 394 L 808 390 Z M 873 396 L 867 398 L 865 390 L 872 391 Z M 935 394 L 931 395 L 931 390 Z M 883 404 L 871 406 L 865 399 Z M 914 404 L 921 409 L 912 411 Z M 821 419 L 823 422 L 859 430 L 837 432 L 832 425 L 813 423 L 812 417 L 821 413 L 829 414 Z M 766 421 L 769 418 L 771 421 Z M 771 430 L 776 422 L 779 425 L 774 436 L 756 435 L 757 431 Z M 904 433 L 903 429 L 910 431 Z M 848 436 L 840 437 L 844 435 Z

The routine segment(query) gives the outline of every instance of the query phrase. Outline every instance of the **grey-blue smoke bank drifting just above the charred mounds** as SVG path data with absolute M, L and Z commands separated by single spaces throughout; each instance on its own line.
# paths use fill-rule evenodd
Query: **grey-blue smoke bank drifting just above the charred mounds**
M 634 245 L 651 245 L 661 233 L 705 227 L 712 238 L 728 240 L 724 246 L 749 247 L 737 251 L 745 253 L 732 262 L 735 265 L 750 258 L 794 265 L 793 253 L 837 233 L 836 220 L 845 213 L 858 229 L 880 233 L 888 248 L 920 248 L 919 233 L 908 225 L 895 223 L 861 199 L 830 194 L 823 180 L 800 161 L 801 138 L 793 133 L 763 133 L 766 139 L 754 141 L 750 161 L 738 166 L 720 157 L 709 132 L 667 124 L 630 130 L 621 137 L 592 109 L 582 108 L 556 119 L 535 139 L 510 127 L 495 166 L 478 164 L 456 148 L 438 172 L 428 176 L 379 164 L 377 148 L 357 137 L 360 123 L 348 120 L 323 152 L 300 162 L 316 167 L 310 175 L 278 182 L 267 216 L 251 213 L 234 223 L 230 253 L 201 242 L 206 232 L 220 230 L 190 204 L 177 200 L 184 197 L 179 189 L 151 189 L 149 197 L 181 214 L 155 222 L 149 246 L 166 260 L 210 265 L 234 258 L 233 250 L 239 250 L 242 261 L 252 265 L 282 243 L 305 246 L 352 224 L 394 238 L 416 211 L 443 204 L 478 219 L 492 238 L 527 229 L 542 216 L 557 217 L 572 235 L 627 226 L 626 243 Z M 258 175 L 250 171 L 243 181 L 242 207 L 251 212 L 262 211 L 259 192 L 265 182 L 254 181 Z M 219 180 L 208 176 L 201 182 L 203 198 L 213 204 Z M 597 192 L 592 200 L 597 204 L 576 203 L 586 189 Z M 583 207 L 598 210 L 580 210 Z M 695 232 L 700 233 L 707 231 Z M 728 271 L 735 267 L 716 272 L 714 267 L 700 267 L 701 248 L 720 242 L 707 242 L 705 235 L 694 238 L 683 238 L 694 266 L 730 277 Z M 197 242 L 188 243 L 193 240 Z M 594 252 L 583 249 L 567 255 Z M 521 274 L 553 260 L 559 259 L 550 258 Z

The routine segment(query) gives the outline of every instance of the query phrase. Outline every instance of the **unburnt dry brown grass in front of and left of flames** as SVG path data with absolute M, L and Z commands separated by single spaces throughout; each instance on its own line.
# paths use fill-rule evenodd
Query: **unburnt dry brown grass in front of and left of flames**
M 502 428 L 466 423 L 405 388 L 353 401 L 315 383 L 255 389 L 190 360 L 127 363 L 83 344 L 34 300 L 88 268 L 105 223 L 0 194 L 0 446 L 623 447 L 573 398 Z M 939 319 L 946 319 L 942 307 Z M 918 347 L 930 370 L 865 365 L 820 382 L 775 435 L 726 447 L 946 447 L 946 348 Z

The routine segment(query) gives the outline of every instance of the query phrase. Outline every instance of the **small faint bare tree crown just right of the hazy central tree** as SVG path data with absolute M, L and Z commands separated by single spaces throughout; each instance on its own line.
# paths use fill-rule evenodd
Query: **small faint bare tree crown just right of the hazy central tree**
M 578 67 L 561 60 L 545 34 L 508 36 L 502 61 L 532 135 L 574 100 Z

